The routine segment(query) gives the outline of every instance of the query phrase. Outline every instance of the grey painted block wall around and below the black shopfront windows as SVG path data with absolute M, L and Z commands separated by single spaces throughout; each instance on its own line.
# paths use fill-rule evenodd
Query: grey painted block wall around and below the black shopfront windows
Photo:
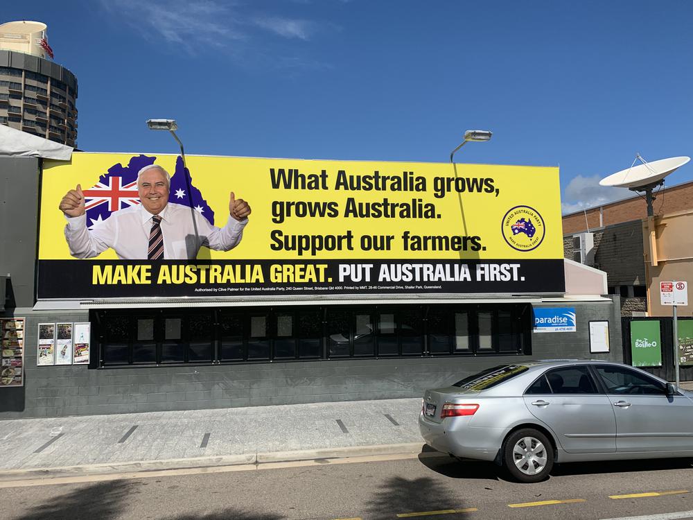
M 618 297 L 615 297 L 616 300 Z M 619 302 L 574 306 L 577 332 L 532 333 L 532 356 L 353 359 L 252 365 L 89 369 L 37 367 L 37 324 L 87 321 L 87 313 L 31 313 L 25 338 L 26 385 L 0 389 L 0 419 L 155 410 L 193 410 L 319 401 L 419 397 L 500 363 L 541 358 L 620 361 Z M 589 320 L 609 320 L 611 352 L 590 354 Z

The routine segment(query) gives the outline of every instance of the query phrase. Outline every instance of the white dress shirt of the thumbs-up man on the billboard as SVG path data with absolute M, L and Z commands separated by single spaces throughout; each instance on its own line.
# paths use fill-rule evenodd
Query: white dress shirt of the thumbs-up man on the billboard
M 248 223 L 247 218 L 239 221 L 229 216 L 226 225 L 219 228 L 211 225 L 198 211 L 194 214 L 197 234 L 190 207 L 169 203 L 159 214 L 165 260 L 195 259 L 202 245 L 228 251 L 238 245 Z M 86 214 L 73 218 L 66 215 L 65 238 L 70 254 L 76 258 L 92 258 L 113 248 L 119 259 L 146 260 L 152 216 L 142 205 L 131 206 L 114 211 L 90 231 Z

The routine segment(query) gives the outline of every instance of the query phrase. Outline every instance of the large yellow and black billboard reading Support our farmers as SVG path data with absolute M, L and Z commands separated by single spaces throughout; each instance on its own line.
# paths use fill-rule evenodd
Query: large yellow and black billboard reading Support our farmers
M 558 168 L 186 167 L 175 155 L 45 161 L 40 299 L 564 291 Z

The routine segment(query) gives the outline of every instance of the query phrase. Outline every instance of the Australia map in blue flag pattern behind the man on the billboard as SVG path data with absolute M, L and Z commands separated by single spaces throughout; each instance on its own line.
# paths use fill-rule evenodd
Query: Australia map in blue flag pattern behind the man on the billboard
M 94 225 L 106 220 L 114 211 L 125 209 L 130 206 L 139 205 L 139 194 L 137 193 L 137 172 L 145 166 L 154 164 L 156 157 L 138 155 L 132 157 L 128 166 L 115 164 L 108 168 L 98 178 L 98 182 L 89 189 L 83 189 L 85 194 L 85 210 L 87 211 L 87 227 L 91 229 Z M 169 172 L 170 173 L 170 172 Z M 207 200 L 202 198 L 200 190 L 195 188 L 190 177 L 190 189 L 185 180 L 186 175 L 190 175 L 187 168 L 183 167 L 183 159 L 178 157 L 175 163 L 175 172 L 171 175 L 171 184 L 168 193 L 168 202 L 174 202 L 182 206 L 195 208 L 204 218 L 214 223 L 214 211 L 207 204 Z

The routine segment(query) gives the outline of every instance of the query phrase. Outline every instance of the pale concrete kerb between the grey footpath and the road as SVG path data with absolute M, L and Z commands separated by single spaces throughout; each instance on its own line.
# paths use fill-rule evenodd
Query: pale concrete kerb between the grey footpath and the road
M 166 471 L 174 469 L 202 469 L 212 467 L 255 466 L 277 462 L 328 460 L 367 457 L 377 455 L 412 455 L 421 453 L 421 442 L 406 444 L 380 444 L 376 446 L 352 446 L 343 448 L 310 449 L 301 451 L 276 451 L 272 453 L 245 453 L 213 457 L 179 458 L 168 460 L 141 460 L 80 466 L 9 469 L 0 471 L 0 482 L 17 480 L 49 479 L 78 476 Z

